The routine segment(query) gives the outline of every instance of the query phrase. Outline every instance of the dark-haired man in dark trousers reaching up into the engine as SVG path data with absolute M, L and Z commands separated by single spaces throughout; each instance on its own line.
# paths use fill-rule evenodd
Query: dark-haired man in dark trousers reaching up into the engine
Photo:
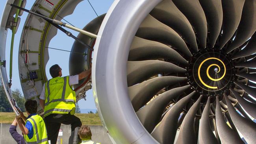
M 81 120 L 74 116 L 76 109 L 76 93 L 71 89 L 71 85 L 78 84 L 80 79 L 91 74 L 91 68 L 74 76 L 62 76 L 59 65 L 50 67 L 52 79 L 43 85 L 40 95 L 40 105 L 45 112 L 45 124 L 48 132 L 48 139 L 51 144 L 56 144 L 59 128 L 61 124 L 71 124 L 71 136 L 69 144 L 72 144 L 74 129 L 82 126 Z M 81 139 L 79 139 L 81 142 Z

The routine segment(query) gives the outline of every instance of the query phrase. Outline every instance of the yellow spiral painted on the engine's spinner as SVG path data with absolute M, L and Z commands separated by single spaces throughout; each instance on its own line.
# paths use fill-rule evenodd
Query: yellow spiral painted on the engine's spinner
M 211 66 L 217 66 L 217 67 L 219 68 L 219 71 L 218 71 L 218 72 L 220 72 L 220 70 L 221 70 L 221 68 L 220 68 L 219 65 L 217 65 L 217 64 L 211 64 L 210 66 L 208 66 L 208 68 L 207 68 L 207 70 L 206 70 L 206 74 L 207 74 L 208 78 L 211 79 L 212 81 L 219 81 L 219 80 L 221 80 L 221 79 L 224 78 L 224 76 L 225 76 L 225 74 L 226 74 L 226 66 L 224 65 L 223 61 L 221 61 L 220 59 L 218 59 L 218 58 L 216 58 L 216 57 L 209 57 L 209 58 L 205 59 L 204 61 L 202 61 L 202 63 L 200 63 L 200 65 L 199 65 L 199 67 L 198 67 L 198 78 L 199 78 L 200 82 L 201 82 L 204 86 L 206 86 L 206 87 L 208 87 L 208 88 L 211 88 L 211 89 L 217 89 L 218 87 L 212 87 L 212 86 L 207 85 L 206 83 L 204 83 L 204 81 L 202 80 L 202 78 L 201 78 L 201 76 L 200 76 L 200 69 L 201 69 L 201 66 L 204 64 L 204 62 L 206 62 L 206 61 L 208 61 L 208 60 L 210 60 L 210 59 L 216 59 L 216 60 L 220 61 L 220 62 L 222 63 L 222 65 L 224 66 L 224 73 L 223 73 L 223 76 L 221 76 L 221 78 L 218 78 L 218 79 L 211 78 L 211 76 L 209 75 L 209 69 L 210 69 Z M 218 72 L 217 72 L 217 73 L 218 73 Z

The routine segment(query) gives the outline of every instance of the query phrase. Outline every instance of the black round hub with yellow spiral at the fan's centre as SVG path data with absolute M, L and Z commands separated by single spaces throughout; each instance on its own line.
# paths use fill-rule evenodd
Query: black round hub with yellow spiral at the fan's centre
M 190 65 L 191 84 L 198 92 L 217 95 L 228 89 L 233 75 L 232 60 L 219 50 L 200 50 L 193 55 Z

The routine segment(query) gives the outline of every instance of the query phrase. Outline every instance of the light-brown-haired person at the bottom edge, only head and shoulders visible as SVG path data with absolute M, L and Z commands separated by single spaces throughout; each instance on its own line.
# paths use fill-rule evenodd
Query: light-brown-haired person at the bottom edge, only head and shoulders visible
M 93 142 L 91 140 L 92 134 L 89 126 L 85 126 L 85 125 L 81 126 L 78 131 L 78 135 L 82 139 L 81 144 L 100 144 L 98 142 Z

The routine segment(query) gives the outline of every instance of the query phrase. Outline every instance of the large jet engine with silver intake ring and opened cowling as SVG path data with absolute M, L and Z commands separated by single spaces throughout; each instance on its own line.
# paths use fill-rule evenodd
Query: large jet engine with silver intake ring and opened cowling
M 80 1 L 56 0 L 49 7 L 37 0 L 31 10 L 61 20 Z M 8 21 L 3 18 L 1 63 Z M 33 15 L 25 24 L 20 81 L 27 99 L 38 98 L 33 92 L 47 81 L 45 47 L 57 28 Z M 92 67 L 91 77 L 74 89 L 80 99 L 93 85 L 113 143 L 255 143 L 255 0 L 115 0 L 83 30 L 97 35 L 77 37 L 94 51 L 75 41 L 72 51 L 84 55 L 70 54 L 70 74 Z M 13 103 L 4 66 L 1 78 Z

